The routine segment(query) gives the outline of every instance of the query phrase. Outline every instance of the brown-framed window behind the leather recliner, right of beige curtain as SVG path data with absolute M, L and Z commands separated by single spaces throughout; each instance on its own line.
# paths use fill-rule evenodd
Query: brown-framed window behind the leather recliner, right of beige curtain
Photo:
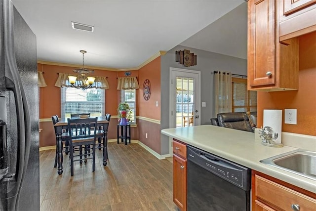
M 257 91 L 247 90 L 247 79 L 232 78 L 232 112 L 257 111 Z

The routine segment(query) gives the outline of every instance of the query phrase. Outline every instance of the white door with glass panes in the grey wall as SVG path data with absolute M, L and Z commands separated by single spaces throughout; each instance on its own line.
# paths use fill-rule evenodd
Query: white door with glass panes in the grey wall
M 200 72 L 170 68 L 170 127 L 200 125 Z

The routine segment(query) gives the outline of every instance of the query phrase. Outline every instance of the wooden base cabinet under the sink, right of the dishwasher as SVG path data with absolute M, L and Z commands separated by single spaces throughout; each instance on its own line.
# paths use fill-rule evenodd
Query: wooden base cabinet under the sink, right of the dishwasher
M 252 171 L 252 211 L 313 211 L 316 194 Z

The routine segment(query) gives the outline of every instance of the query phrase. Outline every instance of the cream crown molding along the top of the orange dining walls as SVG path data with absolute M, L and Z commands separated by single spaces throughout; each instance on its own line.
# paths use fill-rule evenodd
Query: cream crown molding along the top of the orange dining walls
M 133 70 L 139 70 L 154 59 L 158 58 L 159 56 L 164 56 L 167 53 L 167 51 L 160 50 L 157 53 L 155 53 L 152 57 L 147 59 L 145 62 L 143 62 L 141 65 L 135 68 L 126 68 L 126 69 L 116 69 L 116 68 L 107 68 L 107 67 L 96 67 L 96 66 L 84 66 L 85 68 L 89 69 L 97 69 L 97 70 L 108 70 L 108 71 L 133 71 Z M 59 62 L 50 62 L 50 61 L 43 61 L 43 60 L 38 60 L 39 64 L 45 64 L 45 65 L 56 65 L 56 66 L 65 66 L 65 67 L 82 67 L 82 65 L 77 65 L 77 64 L 68 64 L 68 63 L 59 63 Z

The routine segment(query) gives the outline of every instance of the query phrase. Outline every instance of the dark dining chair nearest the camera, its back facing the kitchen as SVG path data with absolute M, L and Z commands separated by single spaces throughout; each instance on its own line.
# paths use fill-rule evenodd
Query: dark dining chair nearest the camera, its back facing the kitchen
M 92 159 L 92 172 L 95 170 L 95 142 L 97 135 L 103 135 L 103 130 L 97 130 L 98 118 L 86 119 L 68 119 L 68 135 L 70 149 L 79 146 L 79 155 L 74 154 L 74 150 L 70 150 L 71 162 L 71 176 L 74 175 L 74 162 L 82 161 L 86 163 L 88 159 Z M 84 146 L 84 154 L 82 154 L 82 147 Z M 91 149 L 88 151 L 87 148 Z M 92 155 L 92 156 L 90 156 Z M 87 157 L 89 156 L 89 157 Z M 79 157 L 79 159 L 77 159 Z M 75 160 L 76 158 L 76 160 Z

